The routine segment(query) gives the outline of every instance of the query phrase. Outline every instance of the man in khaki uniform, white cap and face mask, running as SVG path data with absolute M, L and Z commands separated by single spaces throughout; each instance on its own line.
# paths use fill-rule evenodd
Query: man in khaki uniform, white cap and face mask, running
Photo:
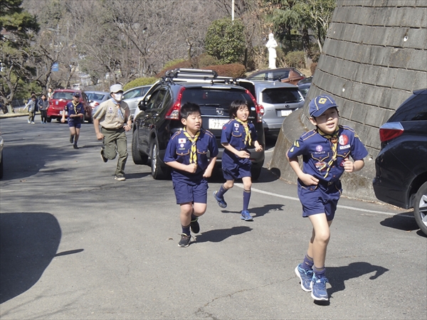
M 119 154 L 114 178 L 125 181 L 126 132 L 132 129 L 132 119 L 130 119 L 130 109 L 127 103 L 122 101 L 122 85 L 112 85 L 110 95 L 111 99 L 102 102 L 93 115 L 93 126 L 95 127 L 96 138 L 102 140 L 102 161 L 113 160 Z

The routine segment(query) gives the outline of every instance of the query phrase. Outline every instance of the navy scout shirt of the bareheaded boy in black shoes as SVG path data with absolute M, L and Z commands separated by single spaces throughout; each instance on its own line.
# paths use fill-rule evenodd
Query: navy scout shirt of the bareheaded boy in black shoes
M 197 170 L 194 174 L 186 171 L 172 169 L 172 178 L 179 180 L 194 180 L 199 179 L 209 165 L 208 151 L 211 158 L 218 155 L 218 146 L 212 132 L 201 129 L 199 138 L 196 140 L 197 148 Z M 190 164 L 191 141 L 184 135 L 184 131 L 180 130 L 169 140 L 166 153 L 164 154 L 164 162 L 178 161 L 180 164 Z

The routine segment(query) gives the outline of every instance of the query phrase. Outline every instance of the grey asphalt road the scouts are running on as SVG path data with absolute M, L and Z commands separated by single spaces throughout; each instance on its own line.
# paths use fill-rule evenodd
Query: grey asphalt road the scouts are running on
M 342 197 L 330 303 L 317 304 L 294 274 L 310 222 L 296 186 L 267 169 L 253 183 L 253 222 L 239 218 L 240 185 L 228 208 L 216 205 L 214 178 L 201 233 L 180 248 L 172 181 L 131 156 L 127 181 L 115 181 L 92 124 L 79 150 L 59 122 L 0 119 L 0 130 L 1 319 L 427 319 L 427 239 L 411 212 Z

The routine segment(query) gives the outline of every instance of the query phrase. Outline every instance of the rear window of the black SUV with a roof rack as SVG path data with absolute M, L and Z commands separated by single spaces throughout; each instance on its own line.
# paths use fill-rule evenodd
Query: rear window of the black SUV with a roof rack
M 223 107 L 228 110 L 231 102 L 243 100 L 248 102 L 248 106 L 253 107 L 251 96 L 244 90 L 236 89 L 206 89 L 206 88 L 186 88 L 182 92 L 181 105 L 186 102 L 196 103 L 200 107 Z

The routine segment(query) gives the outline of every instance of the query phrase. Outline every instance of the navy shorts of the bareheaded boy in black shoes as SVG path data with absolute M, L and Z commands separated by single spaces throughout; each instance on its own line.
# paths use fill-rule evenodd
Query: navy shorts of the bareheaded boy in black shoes
M 173 181 L 176 197 L 176 204 L 181 203 L 207 203 L 208 202 L 208 181 L 202 178 L 197 183 L 194 181 L 177 180 Z

